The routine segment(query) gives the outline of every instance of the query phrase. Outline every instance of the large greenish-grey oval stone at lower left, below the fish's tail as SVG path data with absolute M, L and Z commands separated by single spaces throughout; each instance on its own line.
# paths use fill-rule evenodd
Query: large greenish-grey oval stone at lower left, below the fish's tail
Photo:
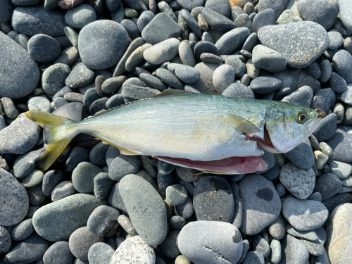
M 34 230 L 44 239 L 60 241 L 84 225 L 92 211 L 103 204 L 89 194 L 73 194 L 39 208 L 33 215 Z M 56 227 L 60 226 L 60 229 Z

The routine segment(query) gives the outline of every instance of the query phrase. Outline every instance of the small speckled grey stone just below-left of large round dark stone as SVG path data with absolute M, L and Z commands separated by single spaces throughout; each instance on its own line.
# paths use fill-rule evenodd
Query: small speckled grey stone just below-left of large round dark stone
M 90 84 L 94 80 L 94 77 L 94 71 L 89 70 L 84 63 L 78 63 L 71 70 L 68 77 L 66 77 L 65 84 L 71 89 L 84 87 Z

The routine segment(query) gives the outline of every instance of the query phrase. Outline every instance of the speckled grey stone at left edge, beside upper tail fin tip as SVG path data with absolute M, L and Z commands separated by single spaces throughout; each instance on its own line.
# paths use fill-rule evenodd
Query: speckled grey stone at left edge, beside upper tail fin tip
M 25 127 L 25 129 L 24 129 Z M 0 131 L 1 153 L 23 154 L 37 144 L 40 127 L 24 114 Z

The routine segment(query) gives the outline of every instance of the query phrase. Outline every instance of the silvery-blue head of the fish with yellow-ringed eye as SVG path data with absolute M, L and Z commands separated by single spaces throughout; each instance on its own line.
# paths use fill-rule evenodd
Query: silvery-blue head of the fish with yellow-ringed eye
M 301 144 L 318 127 L 324 113 L 293 103 L 279 103 L 282 107 L 273 107 L 268 112 L 264 143 L 259 144 L 272 153 L 286 153 Z

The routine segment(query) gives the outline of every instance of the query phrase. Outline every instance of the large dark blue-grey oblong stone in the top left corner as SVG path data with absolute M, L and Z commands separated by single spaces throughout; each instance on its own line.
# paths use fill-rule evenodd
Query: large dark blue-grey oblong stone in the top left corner
M 49 11 L 44 6 L 19 6 L 13 11 L 11 21 L 13 29 L 28 36 L 35 34 L 62 36 L 66 25 L 64 13 Z

